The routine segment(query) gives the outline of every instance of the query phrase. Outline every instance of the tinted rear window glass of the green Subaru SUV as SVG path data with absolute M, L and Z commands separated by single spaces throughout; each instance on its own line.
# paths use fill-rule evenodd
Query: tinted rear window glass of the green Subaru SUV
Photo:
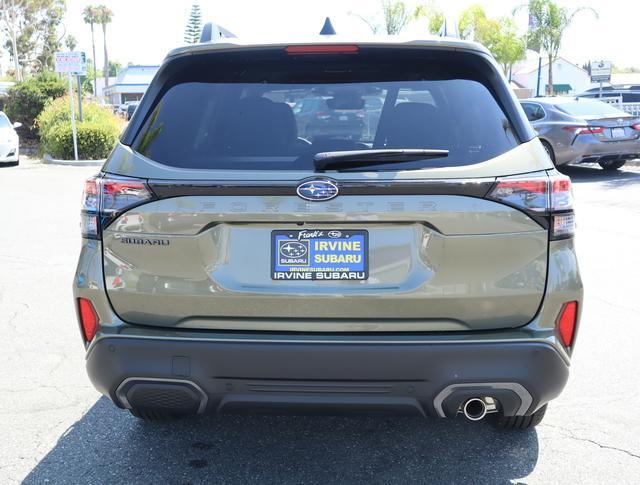
M 319 152 L 385 148 L 446 149 L 449 156 L 372 169 L 460 166 L 517 146 L 482 71 L 436 58 L 240 57 L 223 72 L 215 62 L 182 69 L 132 146 L 174 167 L 235 170 L 313 170 Z

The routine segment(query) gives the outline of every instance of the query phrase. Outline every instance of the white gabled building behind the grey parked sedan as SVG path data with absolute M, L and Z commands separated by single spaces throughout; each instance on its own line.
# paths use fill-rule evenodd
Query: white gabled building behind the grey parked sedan
M 529 89 L 536 95 L 538 84 L 538 54 L 529 52 L 526 60 L 517 63 L 513 67 L 512 81 L 524 89 Z M 549 79 L 549 61 L 546 55 L 542 56 L 542 69 L 540 75 L 540 95 L 547 92 Z M 580 66 L 568 61 L 562 56 L 553 63 L 553 90 L 556 94 L 578 94 L 591 87 L 589 73 Z

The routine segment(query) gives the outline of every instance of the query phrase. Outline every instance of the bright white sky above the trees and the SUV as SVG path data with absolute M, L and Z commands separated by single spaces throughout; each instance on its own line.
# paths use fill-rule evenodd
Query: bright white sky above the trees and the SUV
M 526 0 L 433 0 L 449 16 L 478 3 L 490 17 L 512 16 Z M 598 12 L 578 13 L 567 30 L 560 54 L 582 65 L 589 60 L 611 60 L 618 67 L 640 67 L 638 22 L 640 1 L 557 0 L 569 8 L 592 7 Z M 82 9 L 102 3 L 114 13 L 107 28 L 109 58 L 122 64 L 159 64 L 166 53 L 183 43 L 183 33 L 193 0 L 67 0 L 64 28 L 78 40 L 76 50 L 91 56 L 89 26 L 82 21 Z M 417 2 L 407 1 L 408 4 Z M 353 13 L 365 17 L 380 15 L 378 0 L 203 0 L 199 2 L 203 21 L 214 21 L 238 37 L 277 36 L 295 39 L 319 32 L 326 16 L 339 33 L 366 34 L 369 28 Z M 524 32 L 527 15 L 515 15 Z M 418 22 L 404 33 L 420 36 L 424 24 Z M 102 64 L 102 32 L 96 29 L 96 57 Z

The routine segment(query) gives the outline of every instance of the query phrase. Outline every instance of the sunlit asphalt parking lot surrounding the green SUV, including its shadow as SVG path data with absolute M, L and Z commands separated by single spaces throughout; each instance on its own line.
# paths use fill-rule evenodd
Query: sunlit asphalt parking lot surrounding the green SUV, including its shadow
M 0 169 L 0 483 L 639 483 L 640 167 L 566 170 L 586 288 L 572 376 L 535 430 L 417 418 L 146 424 L 91 387 L 71 296 L 82 181 Z

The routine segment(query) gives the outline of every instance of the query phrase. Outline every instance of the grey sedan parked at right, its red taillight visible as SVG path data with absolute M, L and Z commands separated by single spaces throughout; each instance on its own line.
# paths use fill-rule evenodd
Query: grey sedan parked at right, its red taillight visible
M 597 100 L 549 97 L 520 103 L 551 160 L 617 170 L 640 157 L 640 118 Z

